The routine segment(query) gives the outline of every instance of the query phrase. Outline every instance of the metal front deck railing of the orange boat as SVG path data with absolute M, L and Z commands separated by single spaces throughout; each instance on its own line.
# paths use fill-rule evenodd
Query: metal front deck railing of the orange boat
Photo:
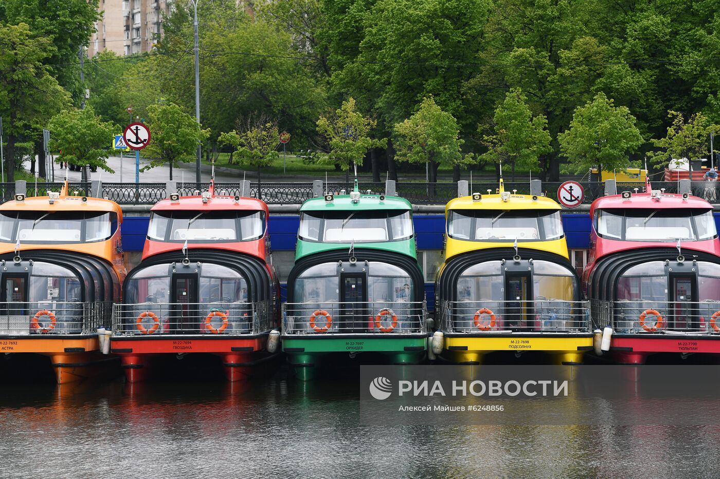
M 94 334 L 109 324 L 111 308 L 111 303 L 102 301 L 8 301 L 0 303 L 0 334 Z

